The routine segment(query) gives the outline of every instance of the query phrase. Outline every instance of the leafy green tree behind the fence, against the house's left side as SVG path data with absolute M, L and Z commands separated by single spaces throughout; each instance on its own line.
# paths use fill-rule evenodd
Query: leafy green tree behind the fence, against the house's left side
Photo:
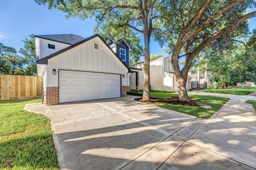
M 20 48 L 19 53 L 23 54 L 26 62 L 24 73 L 26 75 L 36 75 L 36 60 L 39 59 L 35 53 L 35 35 L 31 34 L 25 37 L 23 48 Z

